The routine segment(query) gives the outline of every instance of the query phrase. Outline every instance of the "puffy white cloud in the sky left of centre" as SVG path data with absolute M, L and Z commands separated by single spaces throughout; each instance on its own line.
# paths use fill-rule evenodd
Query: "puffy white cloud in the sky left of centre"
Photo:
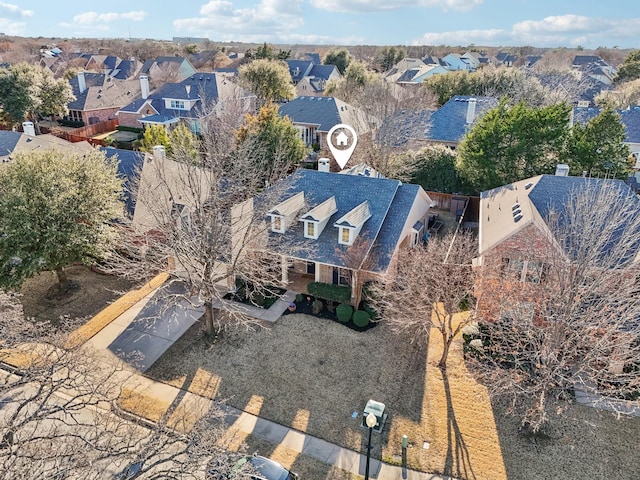
M 260 0 L 250 8 L 236 8 L 228 0 L 211 0 L 199 17 L 173 21 L 178 31 L 195 36 L 255 42 L 282 41 L 304 25 L 302 0 Z

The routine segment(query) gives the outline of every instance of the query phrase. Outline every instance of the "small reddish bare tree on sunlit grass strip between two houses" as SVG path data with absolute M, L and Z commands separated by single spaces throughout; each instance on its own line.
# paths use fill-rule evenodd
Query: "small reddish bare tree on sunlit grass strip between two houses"
M 426 342 L 432 329 L 442 335 L 438 366 L 446 368 L 449 347 L 472 315 L 455 315 L 472 296 L 471 260 L 476 243 L 470 233 L 432 236 L 425 245 L 401 251 L 393 277 L 373 289 L 373 302 L 396 333 Z

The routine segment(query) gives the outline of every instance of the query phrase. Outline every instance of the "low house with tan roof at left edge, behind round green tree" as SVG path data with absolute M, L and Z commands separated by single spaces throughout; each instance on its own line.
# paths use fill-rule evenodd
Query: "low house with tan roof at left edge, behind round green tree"
M 33 126 L 31 126 L 33 128 Z M 29 130 L 25 128 L 25 130 Z M 88 142 L 71 143 L 55 135 L 35 135 L 35 132 L 20 133 L 0 130 L 0 163 L 10 162 L 18 152 L 34 150 L 59 150 L 86 153 L 93 150 Z

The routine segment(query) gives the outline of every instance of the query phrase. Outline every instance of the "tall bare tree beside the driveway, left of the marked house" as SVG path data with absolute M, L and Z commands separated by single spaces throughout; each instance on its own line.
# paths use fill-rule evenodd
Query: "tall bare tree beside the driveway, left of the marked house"
M 180 149 L 145 162 L 135 215 L 107 268 L 135 279 L 170 271 L 186 289 L 176 300 L 202 306 L 205 329 L 214 333 L 259 324 L 225 301 L 238 282 L 269 293 L 280 285 L 281 259 L 266 250 L 266 218 L 290 159 L 283 145 L 265 159 L 258 140 L 234 143 L 233 124 L 224 115 L 209 120 L 199 165 Z M 258 193 L 261 200 L 254 202 Z

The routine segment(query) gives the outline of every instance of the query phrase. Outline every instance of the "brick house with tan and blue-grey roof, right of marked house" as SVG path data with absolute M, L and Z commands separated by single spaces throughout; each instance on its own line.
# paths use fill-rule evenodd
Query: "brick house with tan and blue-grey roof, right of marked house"
M 547 263 L 553 256 L 550 252 L 571 259 L 568 249 L 572 242 L 556 238 L 549 220 L 554 216 L 562 218 L 576 192 L 608 182 L 619 191 L 620 202 L 640 211 L 640 198 L 621 180 L 571 177 L 560 172 L 559 169 L 556 175 L 538 175 L 481 193 L 479 256 L 474 264 L 498 269 L 504 279 L 499 288 L 508 289 L 514 303 L 530 302 L 539 293 L 537 286 L 552 274 Z M 579 231 L 575 230 L 578 234 Z M 631 255 L 630 259 L 636 254 Z M 477 293 L 483 311 L 491 311 L 492 304 L 499 303 L 491 298 L 490 288 Z M 504 291 L 496 294 L 504 295 Z

